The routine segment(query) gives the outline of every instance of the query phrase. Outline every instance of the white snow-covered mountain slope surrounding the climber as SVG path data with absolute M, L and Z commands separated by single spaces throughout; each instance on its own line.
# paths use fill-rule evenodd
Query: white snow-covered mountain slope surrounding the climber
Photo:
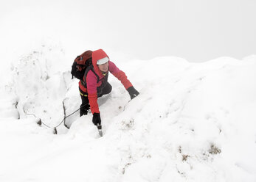
M 255 56 L 112 60 L 140 95 L 109 77 L 101 138 L 91 113 L 53 134 L 80 106 L 66 57 L 41 45 L 2 63 L 0 181 L 256 181 Z

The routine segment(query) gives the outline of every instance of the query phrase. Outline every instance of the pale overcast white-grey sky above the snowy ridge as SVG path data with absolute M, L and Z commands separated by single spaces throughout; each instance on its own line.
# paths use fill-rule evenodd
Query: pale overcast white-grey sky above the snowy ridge
M 70 53 L 109 49 L 128 58 L 202 62 L 256 54 L 255 0 L 0 0 L 1 51 L 47 38 Z

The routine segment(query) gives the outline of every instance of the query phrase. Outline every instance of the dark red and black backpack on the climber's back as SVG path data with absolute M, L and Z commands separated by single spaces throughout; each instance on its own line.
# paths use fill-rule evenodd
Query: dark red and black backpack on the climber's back
M 92 51 L 85 51 L 83 54 L 75 58 L 71 70 L 72 79 L 75 77 L 77 79 L 83 80 L 86 68 L 92 65 L 91 54 Z

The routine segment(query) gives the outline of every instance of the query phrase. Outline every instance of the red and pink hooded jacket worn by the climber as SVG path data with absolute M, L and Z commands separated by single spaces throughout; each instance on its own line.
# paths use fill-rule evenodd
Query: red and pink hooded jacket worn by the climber
M 108 55 L 105 54 L 105 52 L 102 49 L 93 51 L 92 52 L 92 65 L 93 65 L 92 69 L 94 71 L 89 70 L 89 72 L 87 73 L 87 76 L 84 76 L 84 79 L 86 79 L 84 80 L 86 81 L 86 87 L 83 86 L 82 81 L 79 82 L 80 89 L 83 90 L 83 92 L 88 93 L 92 114 L 94 114 L 95 112 L 100 113 L 99 106 L 97 103 L 97 88 L 99 88 L 103 84 L 103 80 L 104 82 L 108 81 L 108 77 L 107 76 L 105 77 L 97 66 L 97 60 L 102 59 L 104 57 L 108 57 Z M 123 84 L 126 90 L 128 89 L 128 87 L 132 87 L 132 84 L 127 79 L 127 76 L 125 75 L 125 73 L 119 68 L 117 68 L 117 66 L 114 65 L 114 62 L 109 61 L 108 65 L 109 65 L 108 71 L 121 81 L 121 83 Z M 98 77 L 95 74 L 97 74 Z

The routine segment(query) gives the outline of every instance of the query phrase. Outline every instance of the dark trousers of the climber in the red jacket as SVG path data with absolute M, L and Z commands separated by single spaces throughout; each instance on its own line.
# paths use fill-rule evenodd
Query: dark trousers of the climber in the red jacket
M 105 85 L 105 87 L 103 88 L 103 91 L 101 93 L 99 93 L 99 95 L 97 97 L 100 98 L 101 96 L 110 93 L 111 90 L 112 90 L 111 84 L 107 83 Z M 80 88 L 79 88 L 79 92 L 80 92 L 80 96 L 82 99 L 82 104 L 80 105 L 80 117 L 81 117 L 83 115 L 88 114 L 90 105 L 89 105 L 88 93 L 83 92 L 83 90 L 81 90 Z

